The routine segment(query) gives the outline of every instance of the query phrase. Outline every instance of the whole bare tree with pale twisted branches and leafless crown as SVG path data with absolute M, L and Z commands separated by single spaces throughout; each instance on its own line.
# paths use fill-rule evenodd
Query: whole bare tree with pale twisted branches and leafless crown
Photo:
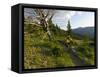
M 52 21 L 52 18 L 54 16 L 54 11 L 47 10 L 47 9 L 34 9 L 33 11 L 34 11 L 33 14 L 30 12 L 27 12 L 27 13 L 30 13 L 33 15 L 36 24 L 42 26 L 45 34 L 47 34 L 49 37 L 49 40 L 51 40 L 52 36 L 49 29 L 49 26 L 50 26 L 49 23 Z

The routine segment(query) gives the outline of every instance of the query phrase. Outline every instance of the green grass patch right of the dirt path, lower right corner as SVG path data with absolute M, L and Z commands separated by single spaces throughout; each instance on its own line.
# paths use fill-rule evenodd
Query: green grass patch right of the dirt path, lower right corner
M 78 57 L 84 60 L 87 65 L 94 65 L 94 48 L 79 46 L 77 47 Z

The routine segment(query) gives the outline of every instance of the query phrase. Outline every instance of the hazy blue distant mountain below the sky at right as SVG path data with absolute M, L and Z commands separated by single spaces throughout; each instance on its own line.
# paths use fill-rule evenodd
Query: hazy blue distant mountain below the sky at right
M 79 27 L 73 29 L 72 32 L 78 35 L 87 35 L 90 38 L 94 38 L 94 27 Z

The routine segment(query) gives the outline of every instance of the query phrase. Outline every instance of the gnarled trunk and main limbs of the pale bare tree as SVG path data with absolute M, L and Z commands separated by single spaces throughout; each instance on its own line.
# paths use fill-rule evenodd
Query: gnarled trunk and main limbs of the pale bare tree
M 50 14 L 49 10 L 45 12 L 43 9 L 37 9 L 35 12 L 38 14 L 37 19 L 39 20 L 40 25 L 43 27 L 44 32 L 47 34 L 49 40 L 52 40 L 52 35 L 49 29 L 49 22 L 51 21 L 54 14 Z

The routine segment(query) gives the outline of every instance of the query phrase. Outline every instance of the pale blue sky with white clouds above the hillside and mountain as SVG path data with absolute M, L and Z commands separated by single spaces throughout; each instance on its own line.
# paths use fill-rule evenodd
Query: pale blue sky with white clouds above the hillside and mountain
M 25 8 L 24 11 L 32 12 L 32 9 Z M 31 14 L 25 13 L 24 15 L 29 16 Z M 94 12 L 90 11 L 56 10 L 52 21 L 63 30 L 67 30 L 66 26 L 68 20 L 70 20 L 72 29 L 79 27 L 94 27 L 94 16 Z

